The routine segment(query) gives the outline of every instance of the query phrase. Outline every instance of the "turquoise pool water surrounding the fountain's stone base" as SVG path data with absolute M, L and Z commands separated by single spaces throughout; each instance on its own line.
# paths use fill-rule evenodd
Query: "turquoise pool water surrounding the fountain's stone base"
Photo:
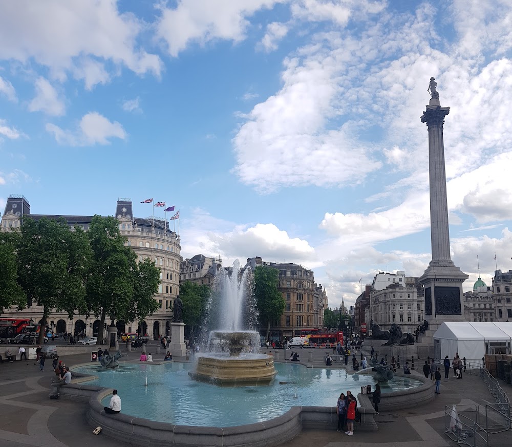
M 219 388 L 191 380 L 193 365 L 121 364 L 119 369 L 87 366 L 84 374 L 99 376 L 88 385 L 117 388 L 122 413 L 180 425 L 229 427 L 272 419 L 292 406 L 334 407 L 340 393 L 360 392 L 374 385 L 368 375 L 353 378 L 344 369 L 305 368 L 275 364 L 278 376 L 267 387 Z M 145 386 L 147 377 L 147 387 Z M 280 385 L 280 381 L 288 382 Z M 397 377 L 381 384 L 382 393 L 416 388 L 421 381 Z M 104 399 L 107 405 L 110 396 Z

